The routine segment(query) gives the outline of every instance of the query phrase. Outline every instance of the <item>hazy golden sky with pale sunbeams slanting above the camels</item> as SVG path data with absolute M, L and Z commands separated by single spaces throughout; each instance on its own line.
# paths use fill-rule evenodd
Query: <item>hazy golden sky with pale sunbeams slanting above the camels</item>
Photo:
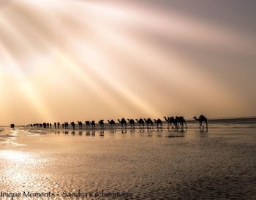
M 1 0 L 0 125 L 256 116 L 255 6 Z

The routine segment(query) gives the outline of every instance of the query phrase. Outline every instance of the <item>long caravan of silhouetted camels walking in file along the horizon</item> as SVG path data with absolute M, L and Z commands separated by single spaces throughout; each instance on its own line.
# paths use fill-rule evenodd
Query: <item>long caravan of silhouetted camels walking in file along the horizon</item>
M 187 129 L 187 122 L 184 119 L 184 117 L 178 117 L 176 116 L 174 117 L 163 117 L 163 119 L 165 120 L 165 122 L 167 123 L 167 128 L 168 129 Z M 206 128 L 208 128 L 208 121 L 207 118 L 203 115 L 200 115 L 199 118 L 194 117 L 195 120 L 197 120 L 199 122 L 199 128 L 204 128 L 203 123 L 206 123 Z M 117 120 L 118 123 L 120 123 L 121 128 L 127 128 L 127 126 L 129 128 L 135 129 L 135 121 L 138 123 L 138 128 L 148 128 L 148 129 L 154 129 L 154 128 L 162 128 L 162 123 L 163 121 L 161 119 L 154 119 L 151 120 L 151 118 L 140 118 L 140 119 L 124 119 L 122 118 L 121 120 Z M 155 123 L 155 126 L 154 126 Z M 104 129 L 106 124 L 104 122 L 104 120 L 99 120 L 98 121 L 99 124 L 99 129 Z M 70 125 L 70 126 L 69 126 Z M 75 129 L 75 122 L 64 122 L 64 123 L 33 123 L 33 124 L 29 124 L 29 127 L 34 127 L 34 128 L 64 128 L 64 129 L 68 129 L 69 127 L 71 127 L 72 129 Z M 108 120 L 108 124 L 107 124 L 108 128 L 110 129 L 116 129 L 116 122 L 114 120 Z M 94 120 L 89 121 L 86 120 L 84 123 L 82 121 L 78 121 L 78 128 L 82 129 L 82 128 L 86 128 L 86 129 L 94 129 L 96 127 L 96 123 Z

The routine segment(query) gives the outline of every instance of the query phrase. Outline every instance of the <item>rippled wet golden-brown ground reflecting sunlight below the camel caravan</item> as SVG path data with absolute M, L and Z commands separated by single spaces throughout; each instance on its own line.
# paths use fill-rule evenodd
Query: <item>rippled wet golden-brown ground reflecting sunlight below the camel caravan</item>
M 38 193 L 75 199 L 79 190 L 88 197 L 76 199 L 115 199 L 113 193 L 129 194 L 127 199 L 256 199 L 256 127 L 211 127 L 104 133 L 0 128 L 0 188 L 21 193 L 20 199 L 29 199 L 23 192 L 31 199 Z M 89 197 L 97 190 L 111 196 Z

